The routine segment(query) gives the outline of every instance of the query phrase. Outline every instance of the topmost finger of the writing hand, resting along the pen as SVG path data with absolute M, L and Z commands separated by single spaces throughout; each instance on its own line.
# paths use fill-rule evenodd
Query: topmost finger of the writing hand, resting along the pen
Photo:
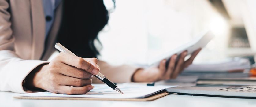
M 94 65 L 87 62 L 86 60 L 84 60 L 81 57 L 76 57 L 76 56 L 70 55 L 68 53 L 61 52 L 61 53 L 59 53 L 57 58 L 62 63 L 74 66 L 76 68 L 81 68 L 81 69 L 83 69 L 83 70 L 85 70 L 85 71 L 87 71 L 87 72 L 89 72 L 93 75 L 97 75 L 98 72 L 99 72 L 99 69 L 97 67 L 95 67 Z

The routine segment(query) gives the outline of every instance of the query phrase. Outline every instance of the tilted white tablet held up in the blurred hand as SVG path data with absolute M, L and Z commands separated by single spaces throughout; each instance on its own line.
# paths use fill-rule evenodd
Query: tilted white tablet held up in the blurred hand
M 163 59 L 168 60 L 172 55 L 174 55 L 174 54 L 180 55 L 180 53 L 182 53 L 185 50 L 187 50 L 187 55 L 190 55 L 195 50 L 205 47 L 208 44 L 208 42 L 210 42 L 210 40 L 213 39 L 213 37 L 214 37 L 214 35 L 211 31 L 206 31 L 206 32 L 202 33 L 201 36 L 198 36 L 198 37 L 192 39 L 190 42 L 188 42 L 180 47 L 177 47 L 176 49 L 171 50 L 167 53 L 164 53 L 156 58 L 149 60 L 147 65 L 148 66 L 158 66 L 161 60 L 163 60 Z

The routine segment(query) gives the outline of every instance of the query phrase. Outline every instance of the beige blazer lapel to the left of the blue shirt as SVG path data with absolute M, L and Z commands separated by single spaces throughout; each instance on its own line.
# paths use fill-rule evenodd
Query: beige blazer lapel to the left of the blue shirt
M 41 0 L 30 0 L 32 18 L 32 59 L 40 59 L 44 50 L 45 18 Z

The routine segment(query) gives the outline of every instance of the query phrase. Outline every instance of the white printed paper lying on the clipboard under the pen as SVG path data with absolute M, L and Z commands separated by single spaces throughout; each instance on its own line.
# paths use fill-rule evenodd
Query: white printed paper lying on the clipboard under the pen
M 26 97 L 84 97 L 84 98 L 145 98 L 159 91 L 165 90 L 166 88 L 176 87 L 176 86 L 147 86 L 143 85 L 118 85 L 119 89 L 124 92 L 120 94 L 119 92 L 113 90 L 106 84 L 93 84 L 94 89 L 86 94 L 80 95 L 68 95 L 68 94 L 56 94 L 51 92 L 37 92 L 20 94 L 20 96 Z

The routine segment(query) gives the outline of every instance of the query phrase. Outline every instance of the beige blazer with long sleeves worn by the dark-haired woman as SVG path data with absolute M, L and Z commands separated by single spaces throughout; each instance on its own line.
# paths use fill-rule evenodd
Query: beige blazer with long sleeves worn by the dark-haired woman
M 62 3 L 45 41 L 45 16 L 41 0 L 0 0 L 0 91 L 26 93 L 24 78 L 56 50 L 55 38 L 61 23 Z M 43 51 L 45 53 L 43 54 Z M 100 61 L 101 72 L 113 82 L 130 82 L 137 69 L 111 66 Z M 94 83 L 98 79 L 93 78 Z

